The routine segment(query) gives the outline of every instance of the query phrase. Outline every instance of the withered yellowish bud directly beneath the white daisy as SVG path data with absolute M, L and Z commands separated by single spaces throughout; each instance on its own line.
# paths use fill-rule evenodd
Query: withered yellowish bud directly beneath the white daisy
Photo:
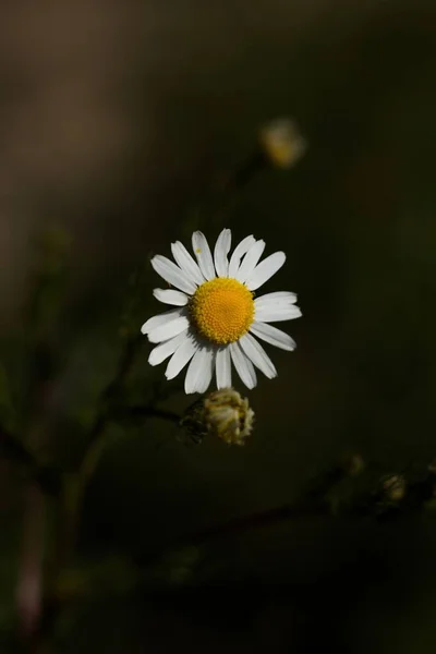
M 254 411 L 249 400 L 233 388 L 215 390 L 192 404 L 181 421 L 191 438 L 201 443 L 206 435 L 228 445 L 244 445 L 253 428 Z

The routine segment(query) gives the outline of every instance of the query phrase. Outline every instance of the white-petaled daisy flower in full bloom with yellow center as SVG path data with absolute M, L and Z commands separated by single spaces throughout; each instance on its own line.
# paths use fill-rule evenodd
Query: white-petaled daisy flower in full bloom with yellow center
M 257 339 L 293 350 L 292 338 L 269 323 L 291 320 L 301 316 L 296 295 L 289 291 L 267 293 L 256 291 L 284 264 L 283 252 L 275 252 L 259 263 L 265 241 L 250 235 L 243 239 L 229 257 L 231 231 L 223 229 L 215 244 L 214 255 L 206 237 L 192 235 L 194 257 L 177 241 L 171 244 L 175 264 L 157 254 L 152 266 L 172 288 L 155 289 L 159 302 L 172 308 L 149 318 L 143 326 L 152 343 L 159 343 L 148 358 L 157 365 L 170 356 L 166 377 L 173 379 L 187 365 L 184 383 L 186 393 L 205 392 L 214 370 L 217 387 L 230 388 L 232 365 L 247 388 L 254 388 L 257 377 L 254 366 L 269 379 L 277 371 Z

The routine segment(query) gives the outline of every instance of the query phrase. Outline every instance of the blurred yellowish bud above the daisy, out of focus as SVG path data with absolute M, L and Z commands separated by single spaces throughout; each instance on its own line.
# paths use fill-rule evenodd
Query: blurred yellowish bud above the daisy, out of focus
M 269 161 L 278 168 L 290 168 L 306 150 L 306 142 L 289 118 L 267 123 L 259 134 L 261 145 Z

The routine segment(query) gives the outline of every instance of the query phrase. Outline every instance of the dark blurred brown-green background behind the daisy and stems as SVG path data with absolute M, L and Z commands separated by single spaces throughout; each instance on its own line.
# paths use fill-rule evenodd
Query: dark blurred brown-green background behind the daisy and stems
M 186 242 L 195 207 L 209 239 L 231 227 L 235 241 L 254 233 L 268 252 L 284 250 L 268 290 L 298 292 L 303 311 L 286 326 L 296 351 L 274 351 L 278 378 L 250 392 L 256 429 L 245 448 L 194 447 L 157 420 L 113 428 L 78 545 L 84 569 L 101 566 L 89 582 L 101 592 L 66 611 L 55 651 L 436 645 L 428 511 L 289 520 L 157 555 L 293 501 L 344 452 L 359 452 L 374 479 L 413 477 L 433 460 L 435 29 L 432 0 L 2 1 L 0 334 L 12 395 L 27 374 L 35 237 L 55 226 L 71 240 L 49 329 L 51 451 L 74 458 L 77 425 L 119 355 L 130 276 Z M 304 158 L 266 170 L 209 221 L 214 189 L 278 116 L 300 125 Z M 159 311 L 148 276 L 144 320 Z M 147 355 L 145 343 L 136 397 L 162 377 Z M 168 408 L 186 403 L 179 393 Z M 23 497 L 12 468 L 0 471 L 8 632 Z M 120 588 L 106 593 L 111 574 Z

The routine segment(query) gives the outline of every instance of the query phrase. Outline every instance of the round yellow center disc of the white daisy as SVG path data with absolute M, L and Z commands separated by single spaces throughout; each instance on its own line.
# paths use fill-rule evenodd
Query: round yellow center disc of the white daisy
M 232 343 L 253 323 L 253 295 L 237 279 L 217 277 L 197 288 L 190 302 L 190 312 L 202 336 L 220 346 Z

